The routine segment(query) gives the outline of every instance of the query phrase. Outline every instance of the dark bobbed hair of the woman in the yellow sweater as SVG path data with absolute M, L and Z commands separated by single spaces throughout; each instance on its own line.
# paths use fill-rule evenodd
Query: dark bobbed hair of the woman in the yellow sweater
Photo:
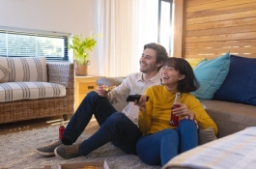
M 199 88 L 200 85 L 194 75 L 194 71 L 185 59 L 169 57 L 162 65 L 173 67 L 175 70 L 185 75 L 185 78 L 178 82 L 177 90 L 179 92 L 189 93 L 196 91 Z

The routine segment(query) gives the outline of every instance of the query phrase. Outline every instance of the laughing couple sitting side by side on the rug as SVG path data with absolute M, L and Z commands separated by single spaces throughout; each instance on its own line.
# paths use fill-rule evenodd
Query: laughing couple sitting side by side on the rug
M 72 158 L 88 155 L 111 142 L 127 154 L 138 155 L 150 165 L 164 165 L 175 155 L 197 146 L 197 123 L 200 128 L 217 127 L 200 102 L 189 93 L 199 84 L 190 65 L 182 58 L 169 57 L 157 43 L 144 45 L 140 71 L 132 73 L 111 92 L 99 86 L 81 102 L 63 133 L 63 139 L 38 148 L 40 155 Z M 161 79 L 161 80 L 160 80 Z M 181 93 L 178 127 L 169 126 L 175 94 Z M 129 94 L 144 94 L 129 102 L 121 112 L 113 107 Z M 146 101 L 147 96 L 149 97 Z M 80 144 L 73 144 L 95 116 L 99 130 Z

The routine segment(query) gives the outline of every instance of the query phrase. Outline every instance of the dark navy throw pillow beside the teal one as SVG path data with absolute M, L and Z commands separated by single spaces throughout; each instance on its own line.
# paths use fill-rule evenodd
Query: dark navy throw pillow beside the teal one
M 213 99 L 256 105 L 256 59 L 230 56 L 230 70 Z

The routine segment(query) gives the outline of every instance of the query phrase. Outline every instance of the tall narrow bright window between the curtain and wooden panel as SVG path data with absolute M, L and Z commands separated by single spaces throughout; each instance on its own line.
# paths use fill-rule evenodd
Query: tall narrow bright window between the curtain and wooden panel
M 158 0 L 158 36 L 157 42 L 162 44 L 169 55 L 172 55 L 173 39 L 173 0 Z

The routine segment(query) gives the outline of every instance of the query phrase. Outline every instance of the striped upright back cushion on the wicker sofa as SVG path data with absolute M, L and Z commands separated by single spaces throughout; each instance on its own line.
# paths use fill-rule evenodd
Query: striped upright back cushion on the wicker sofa
M 11 70 L 0 82 L 47 81 L 45 57 L 0 57 L 0 63 Z

